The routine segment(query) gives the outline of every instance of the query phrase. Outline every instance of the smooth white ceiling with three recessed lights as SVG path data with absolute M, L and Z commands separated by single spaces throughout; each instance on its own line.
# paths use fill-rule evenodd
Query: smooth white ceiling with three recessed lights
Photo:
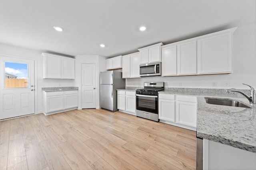
M 70 56 L 115 57 L 252 23 L 256 0 L 0 0 L 0 43 Z

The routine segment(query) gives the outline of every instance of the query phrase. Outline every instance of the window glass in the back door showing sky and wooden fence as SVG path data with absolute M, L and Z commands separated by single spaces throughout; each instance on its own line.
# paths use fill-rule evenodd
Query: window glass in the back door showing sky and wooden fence
M 28 64 L 4 63 L 5 88 L 28 88 Z

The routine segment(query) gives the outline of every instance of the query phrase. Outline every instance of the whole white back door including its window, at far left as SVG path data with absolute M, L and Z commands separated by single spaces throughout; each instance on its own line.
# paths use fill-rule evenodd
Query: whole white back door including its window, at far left
M 0 69 L 0 119 L 34 114 L 34 60 L 0 56 Z

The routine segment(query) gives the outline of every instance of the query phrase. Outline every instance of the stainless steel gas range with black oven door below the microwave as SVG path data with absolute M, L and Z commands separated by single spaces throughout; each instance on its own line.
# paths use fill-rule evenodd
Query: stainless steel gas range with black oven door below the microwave
M 136 90 L 136 115 L 153 121 L 158 119 L 158 92 L 164 90 L 164 82 L 144 82 L 144 88 Z

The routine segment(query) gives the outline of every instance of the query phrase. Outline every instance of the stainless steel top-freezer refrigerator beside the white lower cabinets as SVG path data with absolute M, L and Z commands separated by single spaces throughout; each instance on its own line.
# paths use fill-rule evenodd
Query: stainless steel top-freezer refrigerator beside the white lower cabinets
M 100 72 L 100 107 L 110 111 L 117 111 L 117 91 L 125 88 L 122 72 Z

